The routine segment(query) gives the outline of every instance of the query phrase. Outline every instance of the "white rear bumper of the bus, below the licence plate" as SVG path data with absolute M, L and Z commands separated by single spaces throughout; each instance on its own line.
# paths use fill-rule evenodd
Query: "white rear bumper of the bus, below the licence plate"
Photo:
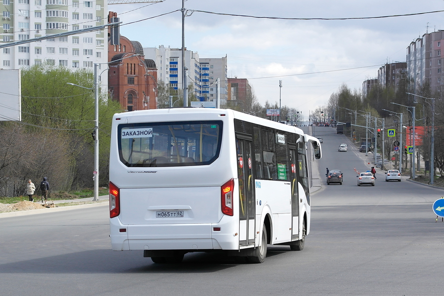
M 123 225 L 115 217 L 110 219 L 111 246 L 114 251 L 238 250 L 238 226 L 230 218 L 218 223 Z M 123 228 L 126 232 L 120 233 Z

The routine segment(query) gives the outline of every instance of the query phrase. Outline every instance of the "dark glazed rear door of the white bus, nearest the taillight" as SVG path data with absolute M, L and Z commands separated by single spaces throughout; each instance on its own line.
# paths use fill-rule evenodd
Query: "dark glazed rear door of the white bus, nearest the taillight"
M 254 217 L 254 177 L 251 156 L 252 141 L 246 137 L 236 139 L 239 180 L 239 245 L 254 245 L 256 238 Z

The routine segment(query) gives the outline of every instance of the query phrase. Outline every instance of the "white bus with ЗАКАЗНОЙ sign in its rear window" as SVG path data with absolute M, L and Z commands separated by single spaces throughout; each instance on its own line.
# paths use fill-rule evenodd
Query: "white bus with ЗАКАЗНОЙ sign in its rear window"
M 301 250 L 310 151 L 321 158 L 299 128 L 229 109 L 114 114 L 112 249 L 144 250 L 155 263 L 210 251 L 262 263 L 267 244 Z

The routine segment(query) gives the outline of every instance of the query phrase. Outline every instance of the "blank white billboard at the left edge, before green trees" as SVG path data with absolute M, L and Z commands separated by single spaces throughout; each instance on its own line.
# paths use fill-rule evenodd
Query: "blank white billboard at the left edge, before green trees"
M 21 121 L 20 69 L 0 69 L 0 120 Z

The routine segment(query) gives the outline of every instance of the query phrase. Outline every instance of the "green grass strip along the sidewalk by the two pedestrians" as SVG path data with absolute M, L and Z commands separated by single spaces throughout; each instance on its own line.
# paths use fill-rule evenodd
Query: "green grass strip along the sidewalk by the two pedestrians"
M 40 200 L 42 197 L 40 195 L 40 190 L 36 190 L 37 194 L 34 194 L 34 201 Z M 99 187 L 99 196 L 101 195 L 107 195 L 108 194 L 108 188 L 106 187 Z M 93 197 L 94 196 L 94 190 L 92 188 L 85 188 L 79 191 L 67 193 L 64 191 L 56 191 L 51 192 L 49 194 L 48 199 L 49 200 L 66 200 L 66 199 L 76 199 L 76 198 L 86 198 L 86 197 Z M 13 204 L 15 202 L 19 201 L 29 201 L 28 195 L 25 196 L 16 196 L 16 197 L 0 197 L 0 203 L 2 204 Z

